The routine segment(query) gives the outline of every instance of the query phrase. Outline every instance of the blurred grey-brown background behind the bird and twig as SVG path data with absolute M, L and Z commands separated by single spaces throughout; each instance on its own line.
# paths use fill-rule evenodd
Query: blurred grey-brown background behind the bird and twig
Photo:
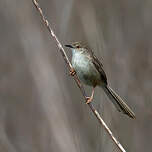
M 94 50 L 109 84 L 135 112 L 135 120 L 117 112 L 96 88 L 93 104 L 120 143 L 151 151 L 152 1 L 40 5 L 63 45 L 82 41 Z M 0 1 L 0 151 L 119 151 L 84 104 L 31 0 Z

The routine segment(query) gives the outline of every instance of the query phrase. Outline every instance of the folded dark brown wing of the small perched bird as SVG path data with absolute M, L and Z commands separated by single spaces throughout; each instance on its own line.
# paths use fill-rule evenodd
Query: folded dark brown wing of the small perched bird
M 88 48 L 87 48 L 88 49 Z M 106 73 L 103 70 L 103 64 L 98 60 L 98 58 L 94 55 L 91 49 L 88 49 L 89 54 L 92 57 L 92 62 L 94 66 L 96 67 L 97 71 L 100 73 L 101 79 L 105 84 L 107 84 L 107 76 Z

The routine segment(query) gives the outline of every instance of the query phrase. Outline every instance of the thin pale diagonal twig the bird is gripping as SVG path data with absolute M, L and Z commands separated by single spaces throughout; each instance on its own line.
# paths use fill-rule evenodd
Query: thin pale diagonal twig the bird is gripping
M 48 29 L 49 33 L 51 34 L 50 36 L 52 36 L 59 48 L 59 51 L 60 53 L 62 54 L 63 56 L 63 59 L 65 61 L 65 63 L 67 64 L 69 70 L 72 69 L 72 64 L 70 63 L 65 51 L 64 51 L 64 48 L 62 46 L 62 44 L 60 43 L 59 39 L 57 38 L 57 36 L 55 35 L 54 31 L 52 30 L 51 26 L 50 26 L 50 23 L 48 22 L 48 20 L 46 19 L 46 17 L 44 16 L 43 12 L 42 12 L 42 9 L 38 3 L 37 0 L 32 0 L 33 1 L 33 4 L 35 5 L 36 9 L 38 10 L 46 28 Z M 87 101 L 87 96 L 86 96 L 86 93 L 85 93 L 85 90 L 84 90 L 84 87 L 83 85 L 81 84 L 78 76 L 75 74 L 73 76 L 73 79 L 75 80 L 77 86 L 80 88 L 80 91 L 83 95 L 83 97 L 85 98 L 85 101 Z M 108 126 L 106 125 L 106 123 L 103 121 L 103 119 L 101 118 L 99 112 L 94 108 L 94 106 L 89 103 L 88 106 L 90 107 L 91 111 L 93 112 L 93 114 L 96 116 L 97 120 L 99 121 L 99 123 L 103 126 L 103 128 L 107 131 L 107 133 L 109 134 L 109 136 L 111 137 L 111 139 L 114 141 L 114 143 L 116 144 L 116 146 L 118 147 L 118 149 L 121 151 L 121 152 L 126 152 L 126 150 L 123 148 L 123 146 L 119 143 L 119 141 L 114 137 L 113 133 L 111 132 L 111 130 L 108 128 Z

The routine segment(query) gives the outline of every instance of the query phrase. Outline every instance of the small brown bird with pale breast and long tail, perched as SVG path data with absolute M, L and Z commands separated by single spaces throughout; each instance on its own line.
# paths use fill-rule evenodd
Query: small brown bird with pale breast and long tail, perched
M 91 96 L 87 97 L 86 103 L 88 104 L 93 100 L 95 87 L 99 86 L 119 112 L 135 118 L 135 114 L 129 106 L 109 87 L 103 64 L 94 55 L 93 51 L 81 42 L 74 42 L 65 46 L 72 50 L 72 66 L 74 69 L 71 70 L 71 73 L 76 72 L 80 81 L 93 87 Z

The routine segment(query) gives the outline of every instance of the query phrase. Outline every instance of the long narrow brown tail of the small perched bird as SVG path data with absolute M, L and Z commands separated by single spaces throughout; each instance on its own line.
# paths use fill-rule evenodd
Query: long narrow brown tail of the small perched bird
M 133 119 L 135 118 L 134 112 L 109 86 L 102 86 L 102 88 L 119 112 L 123 112 Z

